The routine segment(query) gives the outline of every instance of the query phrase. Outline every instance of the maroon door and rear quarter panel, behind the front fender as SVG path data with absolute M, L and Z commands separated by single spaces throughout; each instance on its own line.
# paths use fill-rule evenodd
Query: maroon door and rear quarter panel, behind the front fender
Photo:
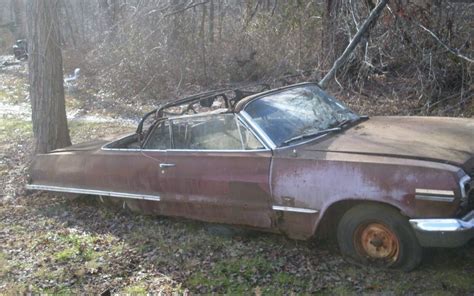
M 38 155 L 31 184 L 155 195 L 159 202 L 127 203 L 159 215 L 272 226 L 271 152 L 121 151 L 102 150 L 103 144 Z

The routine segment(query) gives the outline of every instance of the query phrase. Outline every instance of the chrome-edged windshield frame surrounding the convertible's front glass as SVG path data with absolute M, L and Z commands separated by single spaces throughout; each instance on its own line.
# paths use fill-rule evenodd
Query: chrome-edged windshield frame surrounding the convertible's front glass
M 256 132 L 258 132 L 260 135 L 261 135 L 261 138 L 265 139 L 265 142 L 266 144 L 272 149 L 272 150 L 275 150 L 275 149 L 278 149 L 278 148 L 288 148 L 288 147 L 293 147 L 293 146 L 299 146 L 299 145 L 302 145 L 302 144 L 305 144 L 305 143 L 308 143 L 308 142 L 312 142 L 312 141 L 315 141 L 315 140 L 319 140 L 321 138 L 325 138 L 327 136 L 332 136 L 334 135 L 335 133 L 333 132 L 329 132 L 329 133 L 324 133 L 324 134 L 321 134 L 321 135 L 318 135 L 318 136 L 315 136 L 315 137 L 311 137 L 311 138 L 304 138 L 304 139 L 301 139 L 299 141 L 294 141 L 294 143 L 288 143 L 288 144 L 283 144 L 283 143 L 280 143 L 280 144 L 276 144 L 274 142 L 274 140 L 270 137 L 270 135 L 268 135 L 264 129 L 254 120 L 254 118 L 246 111 L 246 108 L 252 104 L 253 102 L 255 101 L 258 101 L 260 99 L 263 99 L 263 98 L 266 98 L 266 97 L 269 97 L 269 96 L 274 96 L 278 93 L 282 93 L 282 92 L 286 92 L 288 90 L 291 90 L 291 89 L 294 89 L 294 88 L 304 88 L 304 87 L 316 87 L 318 88 L 319 91 L 323 92 L 325 96 L 328 97 L 329 100 L 337 103 L 338 105 L 342 105 L 345 109 L 347 109 L 350 113 L 352 113 L 355 117 L 354 120 L 351 120 L 349 121 L 348 123 L 344 124 L 343 126 L 341 126 L 341 130 L 345 130 L 345 129 L 348 129 L 348 128 L 351 128 L 352 126 L 354 126 L 355 124 L 357 124 L 358 122 L 361 122 L 362 119 L 365 119 L 366 117 L 365 116 L 361 116 L 359 114 L 357 114 L 356 112 L 354 112 L 353 110 L 351 110 L 349 107 L 347 107 L 343 102 L 341 102 L 340 100 L 338 100 L 337 98 L 331 96 L 330 94 L 328 94 L 325 90 L 321 89 L 319 87 L 319 85 L 317 85 L 316 83 L 313 83 L 313 82 L 303 82 L 303 83 L 299 83 L 299 84 L 294 84 L 294 85 L 290 85 L 290 86 L 286 86 L 286 87 L 282 87 L 282 88 L 278 88 L 278 89 L 274 89 L 274 90 L 270 90 L 270 91 L 266 91 L 266 92 L 263 92 L 263 93 L 260 93 L 258 95 L 254 95 L 252 97 L 249 97 L 247 100 L 245 100 L 245 103 L 240 106 L 240 112 L 239 114 L 242 115 L 242 117 L 245 118 L 245 120 L 250 124 L 252 125 L 252 127 L 255 129 Z

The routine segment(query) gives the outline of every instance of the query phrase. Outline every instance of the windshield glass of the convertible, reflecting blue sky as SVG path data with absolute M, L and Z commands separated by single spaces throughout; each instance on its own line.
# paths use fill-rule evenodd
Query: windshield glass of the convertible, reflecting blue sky
M 269 94 L 251 102 L 244 110 L 277 146 L 294 137 L 359 119 L 357 114 L 316 85 Z

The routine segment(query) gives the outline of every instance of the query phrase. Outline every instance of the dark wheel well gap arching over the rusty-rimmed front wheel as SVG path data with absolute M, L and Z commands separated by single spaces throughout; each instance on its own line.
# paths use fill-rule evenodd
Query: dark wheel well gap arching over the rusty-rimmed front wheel
M 342 216 L 349 209 L 361 204 L 376 204 L 400 211 L 399 208 L 383 202 L 367 200 L 341 200 L 331 204 L 329 208 L 324 212 L 324 216 L 321 218 L 317 225 L 315 236 L 318 239 L 326 239 L 330 241 L 336 240 L 336 229 Z

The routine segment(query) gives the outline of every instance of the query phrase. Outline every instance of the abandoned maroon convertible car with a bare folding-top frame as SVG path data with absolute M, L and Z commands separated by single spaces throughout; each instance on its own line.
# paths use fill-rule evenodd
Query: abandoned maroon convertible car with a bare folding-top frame
M 473 175 L 474 120 L 368 118 L 302 83 L 164 104 L 134 134 L 38 155 L 27 188 L 296 239 L 337 231 L 347 258 L 410 270 L 423 247 L 473 238 Z

